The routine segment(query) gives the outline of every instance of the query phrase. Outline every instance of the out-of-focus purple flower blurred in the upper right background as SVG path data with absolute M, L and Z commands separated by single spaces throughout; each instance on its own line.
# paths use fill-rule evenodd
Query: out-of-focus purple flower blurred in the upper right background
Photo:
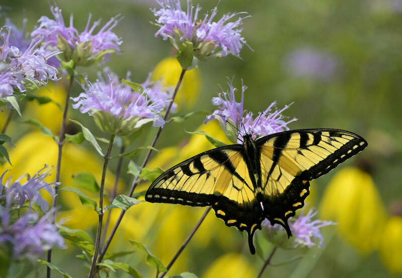
M 300 48 L 286 56 L 285 66 L 296 77 L 330 81 L 335 77 L 339 64 L 329 53 L 313 48 Z

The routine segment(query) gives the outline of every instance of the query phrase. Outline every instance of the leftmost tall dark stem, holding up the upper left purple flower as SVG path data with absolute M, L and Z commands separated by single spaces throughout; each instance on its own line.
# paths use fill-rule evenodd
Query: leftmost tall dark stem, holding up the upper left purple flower
M 62 155 L 62 152 L 63 152 L 64 136 L 65 136 L 66 120 L 67 120 L 67 112 L 68 112 L 68 104 L 69 104 L 69 101 L 70 101 L 70 92 L 71 92 L 73 81 L 74 81 L 74 73 L 72 73 L 70 75 L 70 82 L 68 84 L 67 94 L 66 94 L 66 102 L 65 102 L 65 105 L 64 105 L 63 119 L 62 119 L 61 127 L 60 127 L 59 141 L 58 142 L 56 141 L 57 146 L 58 146 L 58 155 L 57 155 L 56 179 L 55 179 L 55 185 L 54 185 L 55 195 L 54 195 L 54 198 L 53 198 L 52 208 L 55 208 L 56 203 L 57 203 L 57 192 L 58 192 L 58 189 L 59 189 L 59 182 L 60 182 L 61 155 Z M 54 224 L 55 219 L 56 219 L 56 210 L 53 210 L 52 224 Z M 47 251 L 47 261 L 48 262 L 52 261 L 52 249 L 49 249 L 49 251 Z M 50 278 L 50 267 L 49 266 L 47 266 L 46 277 Z

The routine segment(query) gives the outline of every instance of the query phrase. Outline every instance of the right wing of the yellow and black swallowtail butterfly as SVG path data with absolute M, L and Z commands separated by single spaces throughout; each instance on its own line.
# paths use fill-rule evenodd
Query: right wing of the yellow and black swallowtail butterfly
M 287 219 L 304 206 L 309 181 L 328 173 L 367 147 L 359 135 L 341 129 L 297 129 L 256 141 L 264 215 L 291 235 Z

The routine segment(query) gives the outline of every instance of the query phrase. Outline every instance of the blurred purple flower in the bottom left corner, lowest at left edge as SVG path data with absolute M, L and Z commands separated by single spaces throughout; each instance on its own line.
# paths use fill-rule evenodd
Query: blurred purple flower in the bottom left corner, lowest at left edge
M 13 246 L 13 258 L 25 258 L 41 255 L 53 246 L 65 248 L 64 238 L 57 232 L 56 226 L 45 214 L 38 221 L 38 214 L 28 212 L 10 225 L 10 211 L 0 207 L 2 225 L 0 227 L 0 243 L 9 243 Z

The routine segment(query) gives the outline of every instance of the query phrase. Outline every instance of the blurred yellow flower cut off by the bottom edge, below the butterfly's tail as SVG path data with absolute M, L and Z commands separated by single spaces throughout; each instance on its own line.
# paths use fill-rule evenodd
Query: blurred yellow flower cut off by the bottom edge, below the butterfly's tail
M 254 267 L 238 253 L 228 253 L 216 259 L 205 271 L 202 278 L 255 278 Z

